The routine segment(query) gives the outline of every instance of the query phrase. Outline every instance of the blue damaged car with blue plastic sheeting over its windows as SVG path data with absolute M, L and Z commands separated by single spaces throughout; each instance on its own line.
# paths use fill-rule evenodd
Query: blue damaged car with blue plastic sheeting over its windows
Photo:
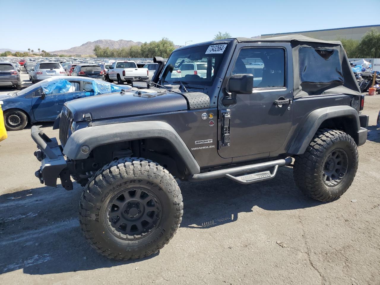
M 27 123 L 52 122 L 67 101 L 130 88 L 78 76 L 45 79 L 23 90 L 0 95 L 5 127 L 16 131 L 25 128 Z

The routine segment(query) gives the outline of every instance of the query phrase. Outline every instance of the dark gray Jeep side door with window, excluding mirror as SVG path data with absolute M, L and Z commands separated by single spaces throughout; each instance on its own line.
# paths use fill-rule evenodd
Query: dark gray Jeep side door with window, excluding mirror
M 218 119 L 218 130 L 230 123 L 230 144 L 218 148 L 221 157 L 264 158 L 281 150 L 291 128 L 293 106 L 274 102 L 293 100 L 292 71 L 290 43 L 237 44 L 226 79 L 233 74 L 253 74 L 253 89 L 249 95 L 237 94 L 235 105 L 219 106 L 221 114 L 230 111 L 229 120 L 224 115 Z M 225 80 L 220 96 L 229 94 Z

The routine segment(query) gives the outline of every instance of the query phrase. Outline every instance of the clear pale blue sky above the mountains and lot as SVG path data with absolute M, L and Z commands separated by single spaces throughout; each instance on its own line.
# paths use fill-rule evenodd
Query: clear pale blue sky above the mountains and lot
M 0 48 L 55 51 L 87 41 L 149 42 L 162 37 L 184 45 L 188 40 L 211 40 L 218 31 L 252 37 L 375 25 L 380 20 L 371 11 L 379 4 L 380 0 L 0 0 L 1 22 L 6 23 L 0 29 Z

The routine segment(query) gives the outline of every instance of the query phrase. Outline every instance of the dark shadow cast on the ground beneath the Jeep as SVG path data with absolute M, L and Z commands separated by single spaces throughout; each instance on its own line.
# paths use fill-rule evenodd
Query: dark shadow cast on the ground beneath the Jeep
M 255 206 L 283 211 L 322 204 L 301 194 L 288 167 L 280 169 L 273 180 L 259 184 L 240 185 L 218 179 L 182 182 L 180 187 L 184 199 L 181 227 L 188 228 L 231 223 L 239 213 L 252 212 Z M 0 196 L 0 274 L 18 269 L 26 274 L 75 272 L 147 259 L 109 260 L 84 241 L 78 222 L 81 190 L 78 185 L 70 192 L 40 187 Z

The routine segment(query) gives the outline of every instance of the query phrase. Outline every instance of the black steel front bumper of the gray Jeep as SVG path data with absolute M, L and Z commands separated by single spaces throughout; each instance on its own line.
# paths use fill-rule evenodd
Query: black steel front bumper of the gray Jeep
M 32 139 L 37 144 L 34 155 L 41 161 L 41 167 L 35 172 L 41 184 L 57 187 L 57 178 L 61 179 L 62 187 L 66 190 L 73 189 L 67 162 L 56 138 L 49 138 L 41 126 L 32 126 Z

